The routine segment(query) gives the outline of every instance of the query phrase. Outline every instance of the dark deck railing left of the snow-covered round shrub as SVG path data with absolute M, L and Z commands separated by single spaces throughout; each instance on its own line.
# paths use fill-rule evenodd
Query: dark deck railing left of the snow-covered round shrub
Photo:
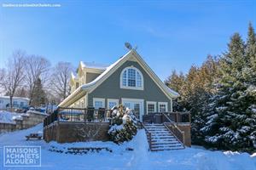
M 44 127 L 53 122 L 109 122 L 111 111 L 104 108 L 59 107 L 44 119 Z

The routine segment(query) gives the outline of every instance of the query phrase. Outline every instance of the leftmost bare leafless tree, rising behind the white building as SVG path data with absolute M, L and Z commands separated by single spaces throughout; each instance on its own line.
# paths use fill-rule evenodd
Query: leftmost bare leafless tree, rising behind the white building
M 3 88 L 9 94 L 10 108 L 13 109 L 13 97 L 16 89 L 24 80 L 25 52 L 16 50 L 9 58 L 6 65 L 6 73 L 3 77 Z

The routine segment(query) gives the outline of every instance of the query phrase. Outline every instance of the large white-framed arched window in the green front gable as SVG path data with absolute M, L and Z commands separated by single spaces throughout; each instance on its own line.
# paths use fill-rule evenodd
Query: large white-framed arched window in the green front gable
M 126 67 L 120 77 L 120 88 L 143 90 L 143 74 L 135 67 Z

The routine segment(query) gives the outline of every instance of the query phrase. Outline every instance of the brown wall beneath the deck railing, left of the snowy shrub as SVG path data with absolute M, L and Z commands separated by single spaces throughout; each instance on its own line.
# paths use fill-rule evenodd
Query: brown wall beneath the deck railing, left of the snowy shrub
M 49 142 L 55 140 L 59 143 L 79 141 L 108 141 L 108 122 L 55 122 L 44 127 L 44 140 Z

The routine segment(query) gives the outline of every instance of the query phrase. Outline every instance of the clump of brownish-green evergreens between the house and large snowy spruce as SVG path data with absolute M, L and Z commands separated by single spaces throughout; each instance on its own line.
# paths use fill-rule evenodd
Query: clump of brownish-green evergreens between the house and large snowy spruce
M 173 111 L 189 111 L 191 114 L 191 137 L 193 144 L 202 144 L 201 128 L 205 125 L 202 114 L 212 90 L 217 72 L 217 59 L 207 57 L 201 67 L 192 66 L 188 75 L 177 75 L 176 71 L 166 80 L 166 85 L 176 90 L 180 97 L 173 103 Z

